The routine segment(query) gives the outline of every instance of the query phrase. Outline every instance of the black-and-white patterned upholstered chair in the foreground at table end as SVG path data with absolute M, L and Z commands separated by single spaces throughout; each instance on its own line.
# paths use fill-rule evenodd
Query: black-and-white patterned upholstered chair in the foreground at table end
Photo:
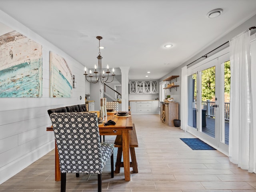
M 98 192 L 102 191 L 102 170 L 111 158 L 114 177 L 113 144 L 100 143 L 96 113 L 50 114 L 58 148 L 61 192 L 66 191 L 66 173 L 98 174 Z

